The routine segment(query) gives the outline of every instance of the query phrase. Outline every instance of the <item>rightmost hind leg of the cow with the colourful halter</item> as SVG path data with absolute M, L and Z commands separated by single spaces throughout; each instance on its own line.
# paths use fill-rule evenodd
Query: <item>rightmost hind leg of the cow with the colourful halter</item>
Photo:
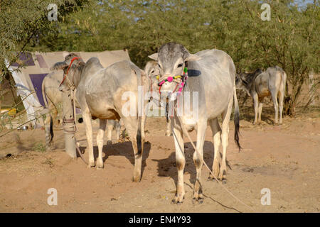
M 219 179 L 225 179 L 225 175 L 227 173 L 227 147 L 228 147 L 228 140 L 229 140 L 229 122 L 230 122 L 230 115 L 233 109 L 233 99 L 230 99 L 228 108 L 223 113 L 223 123 L 221 125 L 221 141 L 223 147 L 223 159 L 221 161 Z

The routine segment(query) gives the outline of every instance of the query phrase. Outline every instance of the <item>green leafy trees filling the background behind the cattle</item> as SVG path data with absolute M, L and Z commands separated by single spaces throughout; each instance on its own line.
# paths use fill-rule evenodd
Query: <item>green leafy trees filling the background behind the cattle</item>
M 262 1 L 251 0 L 87 0 L 73 11 L 67 10 L 65 1 L 57 2 L 58 21 L 40 23 L 46 17 L 48 1 L 37 9 L 33 1 L 21 1 L 19 10 L 13 9 L 15 14 L 1 16 L 0 28 L 9 21 L 11 29 L 5 49 L 16 50 L 25 41 L 28 50 L 38 51 L 126 48 L 132 61 L 144 67 L 148 55 L 171 41 L 191 52 L 218 48 L 228 52 L 238 72 L 282 67 L 289 83 L 287 114 L 294 114 L 309 72 L 319 72 L 319 1 L 303 8 L 293 0 L 265 1 L 271 6 L 271 21 L 260 18 Z M 16 18 L 25 18 L 24 23 Z M 17 36 L 12 31 L 18 31 Z

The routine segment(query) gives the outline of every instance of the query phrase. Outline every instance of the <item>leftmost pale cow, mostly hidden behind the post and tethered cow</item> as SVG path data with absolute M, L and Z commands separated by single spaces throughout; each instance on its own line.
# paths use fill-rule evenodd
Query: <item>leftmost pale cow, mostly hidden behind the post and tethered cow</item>
M 47 109 L 46 119 L 44 120 L 44 128 L 46 133 L 46 149 L 50 150 L 50 146 L 53 140 L 53 126 L 58 127 L 61 119 L 58 119 L 58 105 L 62 104 L 63 97 L 59 90 L 59 85 L 63 79 L 63 74 L 60 71 L 50 72 L 43 79 L 42 82 L 42 96 L 44 101 L 44 107 Z M 78 101 L 75 100 L 75 106 L 80 107 Z M 82 122 L 79 119 L 79 122 Z M 119 142 L 121 125 L 119 121 L 109 120 L 107 121 L 107 144 L 112 144 L 111 136 L 112 130 L 116 131 L 116 140 Z

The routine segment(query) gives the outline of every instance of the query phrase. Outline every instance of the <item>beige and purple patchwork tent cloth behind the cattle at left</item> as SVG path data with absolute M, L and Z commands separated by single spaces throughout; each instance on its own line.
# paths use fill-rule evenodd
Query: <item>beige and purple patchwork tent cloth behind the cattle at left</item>
M 36 112 L 42 109 L 44 105 L 41 92 L 41 84 L 44 77 L 49 74 L 50 67 L 55 62 L 64 60 L 65 55 L 69 52 L 24 52 L 19 55 L 19 62 L 14 62 L 11 65 L 6 62 L 8 69 L 11 71 L 12 77 L 17 88 L 18 96 L 23 100 L 23 106 L 26 109 L 28 121 L 31 121 L 33 126 L 36 123 Z M 90 57 L 99 58 L 103 67 L 108 67 L 114 62 L 121 60 L 130 60 L 127 50 L 112 50 L 103 52 L 75 52 L 82 57 L 85 62 Z M 21 67 L 16 70 L 19 64 L 26 67 Z M 63 73 L 61 73 L 63 77 Z

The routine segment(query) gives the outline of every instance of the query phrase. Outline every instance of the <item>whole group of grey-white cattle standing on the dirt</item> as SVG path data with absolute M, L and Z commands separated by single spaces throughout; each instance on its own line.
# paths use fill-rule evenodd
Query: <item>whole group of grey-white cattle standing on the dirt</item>
M 142 153 L 144 148 L 145 110 L 153 104 L 166 107 L 166 135 L 173 135 L 176 148 L 176 167 L 178 180 L 173 202 L 178 204 L 185 195 L 183 170 L 186 164 L 183 135 L 196 131 L 196 149 L 193 162 L 196 166 L 196 182 L 193 198 L 201 201 L 203 189 L 201 168 L 203 166 L 203 144 L 206 128 L 209 125 L 213 135 L 214 160 L 210 179 L 225 180 L 226 153 L 230 116 L 233 112 L 235 123 L 234 140 L 239 142 L 239 106 L 236 88 L 245 89 L 252 96 L 255 106 L 255 121 L 260 122 L 262 101 L 272 95 L 275 110 L 275 122 L 282 123 L 282 106 L 287 75 L 279 67 L 270 67 L 265 72 L 236 74 L 232 58 L 221 50 L 203 50 L 191 54 L 181 44 L 166 43 L 157 53 L 149 56 L 152 61 L 146 63 L 144 70 L 133 62 L 124 60 L 103 68 L 97 57 L 84 62 L 81 57 L 71 53 L 63 62 L 57 62 L 55 70 L 43 81 L 43 94 L 48 99 L 46 105 L 52 116 L 46 120 L 56 121 L 56 105 L 61 101 L 58 89 L 75 89 L 75 106 L 81 109 L 87 136 L 88 167 L 102 168 L 102 147 L 107 124 L 117 128 L 122 120 L 134 150 L 134 182 L 141 179 Z M 63 81 L 63 70 L 67 79 Z M 59 88 L 60 84 L 60 88 Z M 145 99 L 141 90 L 149 92 Z M 55 94 L 55 95 L 50 95 Z M 58 95 L 57 95 L 58 94 Z M 279 95 L 279 104 L 277 96 Z M 124 99 L 124 97 L 127 97 Z M 130 111 L 127 102 L 130 101 Z M 132 101 L 134 103 L 132 104 Z M 188 106 L 188 108 L 186 108 Z M 222 118 L 219 123 L 218 117 Z M 93 155 L 92 118 L 99 119 L 97 147 L 99 155 Z M 107 123 L 108 122 L 108 123 Z M 52 123 L 50 124 L 50 127 Z M 108 133 L 108 141 L 110 139 Z M 119 133 L 117 133 L 117 137 Z M 46 143 L 50 146 L 52 135 L 46 128 Z M 219 163 L 219 147 L 222 145 L 222 160 Z M 213 152 L 213 151 L 212 151 Z

